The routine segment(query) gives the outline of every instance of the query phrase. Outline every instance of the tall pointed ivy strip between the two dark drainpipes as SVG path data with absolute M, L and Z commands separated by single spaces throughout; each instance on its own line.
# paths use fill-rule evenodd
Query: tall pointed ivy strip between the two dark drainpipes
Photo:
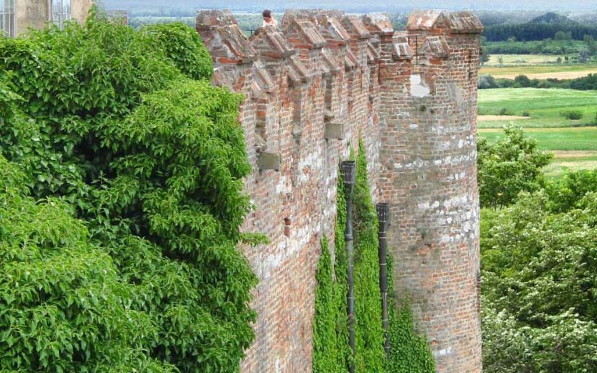
M 353 195 L 355 238 L 355 368 L 356 372 L 383 372 L 383 328 L 377 212 L 371 199 L 367 155 L 362 140 L 356 156 L 356 184 Z

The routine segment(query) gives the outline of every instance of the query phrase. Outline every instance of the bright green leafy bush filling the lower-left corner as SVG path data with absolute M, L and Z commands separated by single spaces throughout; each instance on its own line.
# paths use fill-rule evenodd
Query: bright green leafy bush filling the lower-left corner
M 0 366 L 39 372 L 173 372 L 143 351 L 158 337 L 133 288 L 71 206 L 26 196 L 0 155 Z

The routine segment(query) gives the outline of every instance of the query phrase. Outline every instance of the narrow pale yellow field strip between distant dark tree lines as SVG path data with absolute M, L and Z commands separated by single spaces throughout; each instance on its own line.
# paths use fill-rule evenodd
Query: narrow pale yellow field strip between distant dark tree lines
M 506 56 L 506 55 L 504 55 Z M 511 55 L 533 56 L 533 55 Z M 557 57 L 556 57 L 557 58 Z M 479 75 L 490 74 L 494 78 L 514 79 L 518 75 L 526 75 L 530 79 L 574 79 L 597 73 L 597 65 L 593 64 L 522 64 L 517 66 L 482 66 Z

